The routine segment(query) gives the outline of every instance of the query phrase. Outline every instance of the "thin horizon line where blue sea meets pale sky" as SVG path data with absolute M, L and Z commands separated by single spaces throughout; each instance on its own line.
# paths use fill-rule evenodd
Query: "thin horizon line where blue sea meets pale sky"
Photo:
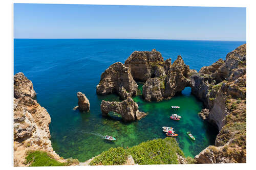
M 155 38 L 13 38 L 13 39 L 138 39 L 138 40 L 180 40 L 180 41 L 246 41 L 246 40 L 155 39 Z

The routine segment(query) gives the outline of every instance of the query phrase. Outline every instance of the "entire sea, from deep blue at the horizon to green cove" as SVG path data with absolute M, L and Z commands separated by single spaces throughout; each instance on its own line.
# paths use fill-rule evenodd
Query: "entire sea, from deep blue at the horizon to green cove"
M 181 55 L 191 69 L 199 70 L 243 44 L 242 41 L 179 41 L 132 39 L 14 39 L 14 74 L 24 72 L 34 85 L 37 101 L 51 115 L 51 141 L 53 149 L 64 158 L 90 159 L 110 147 L 132 147 L 142 141 L 164 138 L 162 126 L 172 126 L 179 134 L 177 140 L 186 156 L 195 156 L 207 145 L 213 144 L 216 129 L 209 126 L 197 113 L 202 102 L 190 95 L 186 88 L 172 100 L 144 102 L 141 96 L 134 100 L 139 109 L 148 112 L 140 121 L 123 123 L 112 115 L 102 117 L 102 100 L 119 101 L 115 94 L 96 94 L 100 75 L 112 63 L 124 62 L 135 50 L 151 51 L 156 48 L 164 59 L 174 61 Z M 139 84 L 139 88 L 142 84 Z M 91 111 L 73 111 L 77 105 L 76 92 L 81 91 L 90 100 Z M 181 106 L 178 110 L 170 106 Z M 180 122 L 169 119 L 177 113 Z M 186 136 L 190 130 L 196 137 Z M 115 142 L 102 139 L 112 135 Z

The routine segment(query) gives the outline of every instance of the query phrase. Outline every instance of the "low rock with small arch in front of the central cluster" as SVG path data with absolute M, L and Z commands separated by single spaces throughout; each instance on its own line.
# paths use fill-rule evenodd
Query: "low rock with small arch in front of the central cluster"
M 103 116 L 107 116 L 109 112 L 116 112 L 122 116 L 124 122 L 139 120 L 146 116 L 146 113 L 140 112 L 138 108 L 137 103 L 130 97 L 122 102 L 102 101 L 100 104 Z

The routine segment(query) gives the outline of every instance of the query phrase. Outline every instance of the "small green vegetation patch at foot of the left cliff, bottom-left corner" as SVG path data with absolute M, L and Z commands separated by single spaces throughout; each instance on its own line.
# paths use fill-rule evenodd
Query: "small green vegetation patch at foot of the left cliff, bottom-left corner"
M 25 164 L 30 164 L 29 166 L 69 166 L 72 164 L 78 164 L 77 159 L 67 159 L 66 162 L 59 162 L 53 159 L 53 157 L 43 151 L 29 151 L 27 153 Z

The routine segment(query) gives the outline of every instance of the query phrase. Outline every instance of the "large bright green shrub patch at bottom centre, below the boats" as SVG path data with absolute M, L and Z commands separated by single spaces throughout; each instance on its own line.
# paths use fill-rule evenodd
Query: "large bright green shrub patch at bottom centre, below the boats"
M 138 164 L 178 164 L 176 153 L 184 157 L 174 138 L 154 139 L 129 149 L 111 148 L 96 157 L 90 165 L 120 165 L 132 155 Z M 189 158 L 188 158 L 189 159 Z M 193 160 L 189 159 L 193 162 Z

